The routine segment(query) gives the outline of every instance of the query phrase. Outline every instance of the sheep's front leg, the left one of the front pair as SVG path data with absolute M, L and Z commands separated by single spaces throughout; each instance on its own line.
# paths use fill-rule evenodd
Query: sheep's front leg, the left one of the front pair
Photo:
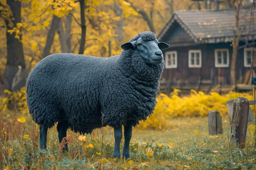
M 114 128 L 114 136 L 115 136 L 115 148 L 114 148 L 112 158 L 120 158 L 121 157 L 120 143 L 123 137 L 122 125 L 118 126 L 117 128 Z

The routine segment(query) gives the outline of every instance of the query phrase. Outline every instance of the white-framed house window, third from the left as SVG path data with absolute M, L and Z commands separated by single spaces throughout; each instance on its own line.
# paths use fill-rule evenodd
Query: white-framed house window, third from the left
M 215 49 L 215 67 L 229 67 L 229 49 Z

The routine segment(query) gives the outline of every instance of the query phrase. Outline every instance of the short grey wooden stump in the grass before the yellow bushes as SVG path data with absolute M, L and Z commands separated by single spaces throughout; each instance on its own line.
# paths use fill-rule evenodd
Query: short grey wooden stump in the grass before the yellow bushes
M 208 112 L 209 134 L 222 134 L 222 121 L 219 111 Z

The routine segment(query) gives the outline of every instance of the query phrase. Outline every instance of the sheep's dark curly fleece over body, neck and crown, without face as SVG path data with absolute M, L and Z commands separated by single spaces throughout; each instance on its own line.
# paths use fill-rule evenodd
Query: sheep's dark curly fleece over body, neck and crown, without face
M 146 35 L 149 37 L 146 38 Z M 132 40 L 155 34 L 142 32 Z M 91 133 L 146 120 L 156 105 L 161 64 L 145 64 L 136 50 L 109 58 L 52 54 L 41 60 L 27 79 L 27 104 L 32 119 L 50 128 L 64 121 L 71 130 Z

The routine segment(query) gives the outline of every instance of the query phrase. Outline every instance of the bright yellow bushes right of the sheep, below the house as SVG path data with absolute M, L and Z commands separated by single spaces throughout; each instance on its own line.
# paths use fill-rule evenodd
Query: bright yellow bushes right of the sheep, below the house
M 218 110 L 221 115 L 225 115 L 227 114 L 227 100 L 236 97 L 253 99 L 252 94 L 232 91 L 226 95 L 220 95 L 216 92 L 205 94 L 202 91 L 197 93 L 195 90 L 191 90 L 190 95 L 184 97 L 180 97 L 179 93 L 180 90 L 174 89 L 171 97 L 159 94 L 154 114 L 147 121 L 141 122 L 139 127 L 161 129 L 169 125 L 168 119 L 166 119 L 168 117 L 207 116 L 211 110 Z

